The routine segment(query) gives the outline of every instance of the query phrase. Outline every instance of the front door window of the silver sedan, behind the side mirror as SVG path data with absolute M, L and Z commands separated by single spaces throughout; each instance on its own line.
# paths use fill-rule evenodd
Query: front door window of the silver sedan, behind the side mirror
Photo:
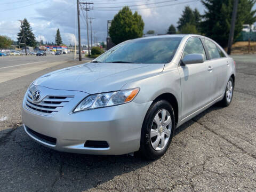
M 199 38 L 190 38 L 185 45 L 185 49 L 183 51 L 183 57 L 188 54 L 203 54 L 204 60 L 206 60 L 206 54 L 204 51 L 203 44 Z

